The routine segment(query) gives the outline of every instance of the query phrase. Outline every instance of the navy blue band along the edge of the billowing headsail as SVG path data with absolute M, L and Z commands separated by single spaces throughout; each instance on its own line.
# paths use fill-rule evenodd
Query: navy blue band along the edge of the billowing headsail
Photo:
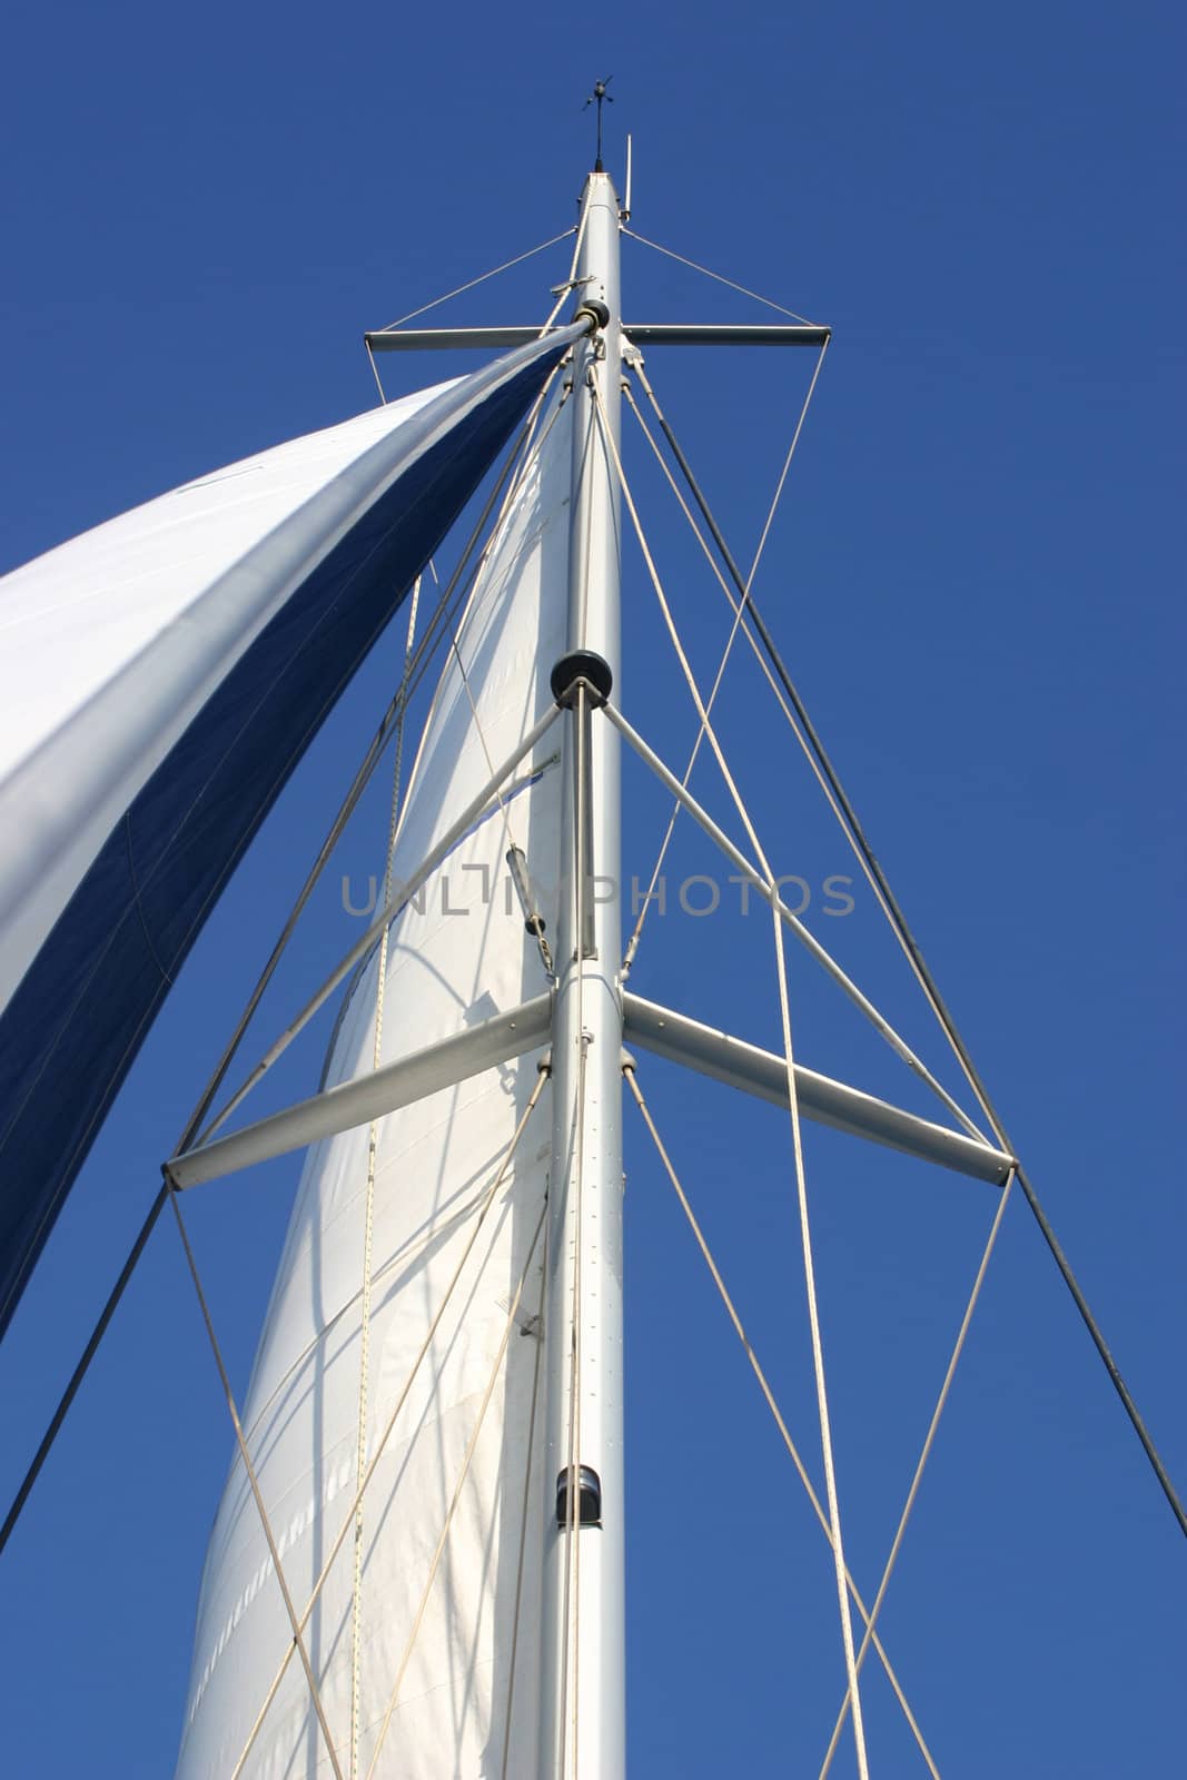
M 404 470 L 295 589 L 135 797 L 9 1002 L 0 1335 L 244 849 L 562 351 Z

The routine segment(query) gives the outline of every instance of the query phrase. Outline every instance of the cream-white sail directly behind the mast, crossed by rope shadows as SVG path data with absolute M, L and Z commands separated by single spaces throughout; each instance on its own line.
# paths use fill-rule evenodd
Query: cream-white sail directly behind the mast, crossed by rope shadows
M 491 762 L 509 755 L 550 703 L 548 669 L 564 650 L 566 422 L 562 409 L 477 584 L 459 641 L 464 676 L 459 660 L 450 659 L 438 687 L 397 838 L 397 881 L 413 874 L 480 792 Z M 424 897 L 392 926 L 383 1063 L 514 1007 L 546 986 L 536 942 L 509 892 L 505 853 L 511 844 L 525 851 L 552 926 L 561 810 L 553 748 L 550 739 L 539 744 L 502 810 L 472 829 Z M 372 956 L 343 1009 L 329 1084 L 372 1068 L 377 974 L 379 959 Z M 548 1504 L 539 1460 L 529 1483 L 529 1454 L 539 1444 L 529 1438 L 529 1424 L 550 1153 L 546 1095 L 452 1292 L 450 1282 L 536 1082 L 537 1056 L 527 1056 L 392 1114 L 377 1129 L 370 1458 L 413 1374 L 415 1383 L 363 1504 L 359 1773 L 370 1769 L 381 1736 L 375 1771 L 409 1780 L 534 1769 L 539 1554 Z M 367 1180 L 367 1129 L 310 1153 L 244 1406 L 249 1451 L 299 1614 L 351 1517 L 358 1483 Z M 520 1285 L 518 1314 L 509 1317 Z M 425 1331 L 443 1305 L 416 1367 Z M 491 1380 L 493 1394 L 429 1584 Z M 352 1575 L 351 1531 L 306 1627 L 343 1771 L 351 1748 Z M 183 1780 L 235 1769 L 290 1648 L 290 1622 L 237 1461 L 201 1588 L 178 1768 Z M 329 1773 L 297 1657 L 288 1663 L 244 1773 L 260 1780 Z

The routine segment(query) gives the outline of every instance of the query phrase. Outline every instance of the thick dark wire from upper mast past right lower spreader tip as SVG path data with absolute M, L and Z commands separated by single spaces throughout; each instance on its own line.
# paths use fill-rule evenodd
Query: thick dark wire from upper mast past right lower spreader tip
M 952 1054 L 956 1056 L 956 1059 L 957 1059 L 957 1063 L 961 1066 L 965 1080 L 972 1088 L 972 1091 L 973 1091 L 973 1095 L 977 1098 L 977 1104 L 979 1104 L 984 1118 L 989 1123 L 989 1130 L 997 1137 L 1000 1148 L 1005 1150 L 1007 1153 L 1014 1155 L 1014 1148 L 1013 1148 L 1013 1145 L 1009 1141 L 1009 1136 L 1005 1132 L 1005 1127 L 1004 1127 L 1002 1120 L 998 1118 L 998 1112 L 997 1112 L 997 1109 L 993 1105 L 993 1100 L 989 1098 L 989 1091 L 984 1086 L 984 1082 L 981 1079 L 981 1073 L 979 1073 L 979 1070 L 977 1070 L 977 1066 L 975 1066 L 975 1063 L 972 1059 L 972 1052 L 968 1050 L 968 1047 L 966 1047 L 966 1043 L 965 1043 L 965 1040 L 961 1036 L 961 1031 L 959 1031 L 959 1027 L 957 1027 L 952 1013 L 949 1011 L 949 1007 L 947 1007 L 947 1004 L 943 1000 L 943 995 L 940 993 L 940 986 L 938 986 L 938 983 L 936 983 L 936 979 L 934 979 L 934 975 L 933 975 L 933 972 L 931 972 L 931 968 L 927 965 L 927 959 L 924 958 L 924 952 L 922 952 L 922 949 L 920 949 L 920 945 L 918 945 L 918 942 L 915 938 L 915 933 L 911 931 L 911 926 L 909 926 L 906 915 L 902 913 L 899 899 L 895 897 L 893 890 L 890 888 L 890 879 L 886 878 L 886 872 L 883 870 L 883 865 L 881 865 L 877 854 L 874 853 L 874 847 L 870 846 L 870 840 L 867 838 L 867 833 L 865 833 L 865 829 L 863 829 L 863 826 L 861 826 L 861 822 L 858 819 L 858 812 L 854 810 L 854 806 L 852 806 L 852 803 L 849 799 L 849 794 L 845 792 L 845 787 L 844 787 L 844 783 L 840 780 L 840 774 L 836 773 L 836 767 L 833 765 L 833 760 L 829 758 L 829 753 L 824 748 L 820 733 L 815 728 L 812 717 L 808 716 L 808 708 L 806 708 L 806 705 L 804 705 L 799 691 L 795 689 L 795 685 L 792 682 L 792 676 L 787 671 L 783 657 L 779 655 L 779 650 L 778 650 L 778 646 L 774 643 L 774 637 L 771 635 L 771 630 L 767 628 L 765 619 L 762 618 L 762 612 L 755 605 L 755 600 L 747 598 L 746 582 L 742 578 L 742 571 L 739 570 L 739 564 L 737 564 L 737 561 L 735 561 L 730 546 L 726 545 L 726 539 L 724 539 L 724 536 L 721 532 L 721 527 L 717 525 L 717 522 L 715 522 L 715 518 L 714 518 L 714 514 L 712 514 L 712 511 L 708 507 L 708 502 L 707 502 L 707 498 L 705 498 L 705 495 L 703 495 L 703 491 L 699 488 L 699 482 L 696 481 L 696 477 L 692 473 L 689 459 L 685 457 L 683 450 L 680 449 L 680 443 L 678 443 L 678 440 L 676 440 L 671 425 L 667 424 L 667 418 L 660 411 L 658 402 L 655 402 L 655 399 L 653 399 L 653 408 L 655 408 L 657 420 L 658 420 L 658 424 L 660 424 L 660 427 L 664 431 L 664 436 L 666 436 L 666 440 L 667 440 L 667 443 L 669 443 L 669 447 L 673 450 L 673 456 L 676 457 L 676 463 L 680 465 L 680 470 L 682 470 L 682 473 L 685 477 L 685 482 L 689 484 L 689 491 L 692 493 L 692 498 L 696 500 L 698 507 L 701 509 L 701 516 L 705 518 L 705 523 L 707 523 L 707 527 L 708 527 L 708 530 L 710 530 L 710 534 L 714 538 L 714 543 L 717 545 L 717 548 L 721 552 L 721 559 L 723 559 L 723 562 L 724 562 L 724 566 L 726 566 L 726 570 L 730 573 L 730 578 L 733 580 L 733 586 L 739 589 L 739 595 L 742 596 L 742 600 L 749 607 L 749 616 L 751 616 L 751 619 L 755 623 L 755 630 L 758 632 L 762 646 L 767 651 L 767 659 L 769 659 L 769 662 L 771 662 L 771 666 L 772 666 L 772 669 L 774 669 L 774 673 L 776 673 L 776 676 L 778 676 L 778 680 L 779 680 L 779 684 L 781 684 L 787 698 L 790 700 L 792 708 L 794 708 L 795 716 L 799 717 L 799 723 L 803 724 L 804 735 L 808 737 L 808 742 L 812 746 L 812 751 L 815 755 L 819 769 L 824 774 L 824 780 L 828 781 L 828 787 L 831 790 L 829 803 L 833 806 L 833 812 L 836 813 L 836 819 L 842 824 L 842 829 L 847 833 L 847 838 L 849 838 L 851 846 L 854 847 L 854 851 L 861 858 L 863 869 L 867 872 L 867 878 L 876 886 L 877 901 L 879 901 L 879 904 L 881 904 L 881 908 L 883 908 L 883 911 L 884 911 L 884 915 L 888 918 L 888 922 L 890 922 L 890 927 L 892 927 L 895 938 L 899 940 L 899 945 L 902 947 L 902 952 L 908 958 L 908 963 L 909 963 L 913 974 L 915 974 L 915 979 L 920 984 L 920 988 L 924 991 L 924 997 L 927 999 L 927 1004 L 931 1006 L 933 1015 L 936 1016 L 936 1022 L 940 1024 L 940 1029 L 943 1031 L 943 1034 L 945 1034 L 945 1038 L 947 1038 L 947 1041 L 949 1041 L 949 1045 L 952 1048 Z M 842 819 L 842 813 L 844 813 L 844 819 Z M 1016 1180 L 1018 1180 L 1018 1185 L 1021 1189 L 1021 1194 L 1023 1194 L 1027 1205 L 1030 1207 L 1034 1221 L 1038 1223 L 1039 1232 L 1043 1234 L 1043 1241 L 1046 1242 L 1046 1246 L 1048 1246 L 1048 1250 L 1052 1253 L 1052 1258 L 1054 1258 L 1055 1266 L 1059 1267 L 1062 1282 L 1068 1287 L 1068 1292 L 1071 1294 L 1071 1299 L 1073 1299 L 1077 1310 L 1080 1312 L 1080 1319 L 1084 1321 L 1084 1326 L 1086 1326 L 1086 1330 L 1087 1330 L 1087 1333 L 1089 1333 L 1089 1337 L 1093 1340 L 1093 1346 L 1096 1347 L 1096 1353 L 1098 1353 L 1098 1356 L 1100 1356 L 1100 1360 L 1102 1360 L 1102 1363 L 1105 1367 L 1105 1372 L 1109 1374 L 1109 1378 L 1112 1381 L 1112 1388 L 1116 1390 L 1118 1397 L 1121 1399 L 1121 1406 L 1123 1406 L 1123 1410 L 1125 1410 L 1125 1413 L 1126 1413 L 1126 1417 L 1130 1420 L 1130 1426 L 1132 1426 L 1134 1433 L 1137 1435 L 1137 1440 L 1139 1440 L 1139 1444 L 1143 1447 L 1143 1452 L 1146 1454 L 1146 1460 L 1150 1461 L 1150 1468 L 1153 1470 L 1153 1474 L 1155 1474 L 1155 1477 L 1157 1477 L 1157 1481 L 1159 1481 L 1159 1485 L 1162 1488 L 1162 1493 L 1166 1495 L 1166 1499 L 1169 1502 L 1171 1513 L 1175 1515 L 1175 1520 L 1178 1522 L 1180 1533 L 1183 1533 L 1183 1536 L 1187 1536 L 1187 1509 L 1183 1508 L 1183 1502 L 1182 1502 L 1182 1499 L 1180 1499 L 1180 1495 L 1178 1495 L 1178 1492 L 1176 1492 L 1176 1488 L 1175 1488 L 1175 1485 L 1171 1481 L 1171 1476 L 1169 1476 L 1169 1472 L 1167 1472 L 1167 1468 L 1166 1468 L 1166 1465 L 1162 1461 L 1162 1456 L 1159 1454 L 1159 1449 L 1157 1449 L 1157 1445 L 1153 1442 L 1153 1436 L 1151 1436 L 1150 1429 L 1146 1428 L 1146 1422 L 1144 1422 L 1144 1419 L 1143 1419 L 1143 1415 L 1141 1415 L 1141 1412 L 1137 1408 L 1137 1403 L 1134 1401 L 1134 1397 L 1130 1394 L 1130 1388 L 1125 1383 L 1125 1378 L 1121 1376 L 1121 1369 L 1119 1369 L 1118 1362 L 1114 1360 L 1109 1344 L 1105 1342 L 1103 1330 L 1100 1328 L 1100 1323 L 1093 1315 L 1093 1310 L 1091 1310 L 1091 1307 L 1087 1303 L 1087 1298 L 1084 1296 L 1084 1290 L 1082 1290 L 1082 1287 L 1080 1287 L 1080 1283 L 1078 1283 L 1078 1280 L 1077 1280 L 1077 1276 L 1075 1276 L 1075 1273 L 1071 1269 L 1071 1262 L 1064 1255 L 1064 1250 L 1062 1250 L 1062 1246 L 1059 1242 L 1059 1237 L 1055 1235 L 1052 1221 L 1046 1216 L 1046 1212 L 1043 1209 L 1043 1203 L 1041 1203 L 1041 1200 L 1039 1200 L 1039 1196 L 1038 1196 L 1038 1193 L 1036 1193 L 1036 1189 L 1034 1189 L 1034 1185 L 1030 1182 L 1030 1177 L 1027 1175 L 1027 1169 L 1021 1164 L 1018 1164 L 1018 1168 L 1016 1168 Z

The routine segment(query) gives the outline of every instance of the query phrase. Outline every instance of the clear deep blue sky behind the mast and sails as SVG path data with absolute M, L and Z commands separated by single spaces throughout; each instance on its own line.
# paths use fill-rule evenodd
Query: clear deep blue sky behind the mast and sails
M 1185 1486 L 1180 14 L 66 5 L 11 23 L 5 62 L 0 568 L 368 406 L 363 328 L 573 219 L 598 75 L 612 171 L 635 137 L 635 226 L 835 328 L 756 591 Z M 626 247 L 635 317 L 758 313 Z M 541 258 L 456 313 L 534 317 L 562 274 Z M 648 368 L 746 555 L 804 361 Z M 719 595 L 639 449 L 630 466 L 708 671 Z M 676 760 L 694 726 L 634 554 L 625 598 L 626 708 Z M 61 1219 L 0 1351 L 5 1501 L 390 678 L 368 666 L 274 812 Z M 723 700 L 779 867 L 849 870 L 749 668 Z M 724 810 L 712 773 L 698 789 Z M 343 844 L 359 881 L 384 796 Z M 646 872 L 664 806 L 634 776 L 628 797 Z M 678 831 L 671 881 L 712 869 Z M 352 936 L 331 879 L 260 1043 Z M 868 895 L 828 936 L 940 1063 Z M 634 986 L 778 1038 L 765 922 L 669 913 Z M 794 1007 L 803 1061 L 918 1105 L 799 959 Z M 317 1041 L 276 1093 L 315 1070 Z M 641 1079 L 815 1461 L 785 1123 Z M 808 1168 L 872 1593 L 991 1189 L 829 1134 Z M 240 1383 L 294 1180 L 278 1164 L 194 1203 Z M 626 1218 L 634 1773 L 815 1771 L 842 1675 L 828 1550 L 639 1130 Z M 162 1228 L 0 1563 L 12 1773 L 171 1771 L 228 1460 Z M 1176 1771 L 1182 1566 L 1016 1203 L 884 1616 L 940 1771 Z M 916 1771 L 872 1671 L 868 1721 L 872 1769 Z

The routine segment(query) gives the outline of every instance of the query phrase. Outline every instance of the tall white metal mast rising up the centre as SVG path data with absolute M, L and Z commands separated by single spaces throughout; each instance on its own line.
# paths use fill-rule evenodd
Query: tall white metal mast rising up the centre
M 564 810 L 545 1282 L 541 1780 L 618 1780 L 625 1727 L 623 1011 L 619 739 L 596 717 L 619 668 L 619 205 L 585 180 L 573 349 Z M 603 308 L 600 308 L 603 306 Z M 602 413 L 598 413 L 598 408 Z M 577 1479 L 577 1486 L 573 1481 Z

